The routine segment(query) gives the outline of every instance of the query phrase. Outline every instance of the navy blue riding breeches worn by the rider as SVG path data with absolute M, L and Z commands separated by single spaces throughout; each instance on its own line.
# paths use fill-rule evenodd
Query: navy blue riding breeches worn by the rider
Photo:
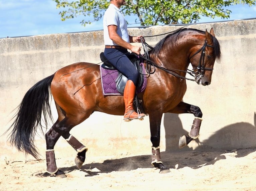
M 139 73 L 126 55 L 130 53 L 126 49 L 105 48 L 104 56 L 123 75 L 137 85 Z

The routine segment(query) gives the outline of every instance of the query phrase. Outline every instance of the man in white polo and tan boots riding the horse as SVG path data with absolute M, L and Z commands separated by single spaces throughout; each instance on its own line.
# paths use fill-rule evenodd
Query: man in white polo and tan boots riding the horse
M 128 78 L 124 89 L 124 121 L 130 121 L 145 116 L 144 113 L 138 114 L 133 109 L 133 99 L 139 73 L 127 57 L 130 54 L 127 49 L 140 54 L 141 47 L 133 46 L 130 43 L 141 42 L 140 37 L 142 36 L 128 35 L 127 23 L 120 10 L 120 7 L 124 4 L 125 0 L 110 0 L 110 5 L 104 14 L 104 55 L 119 72 Z

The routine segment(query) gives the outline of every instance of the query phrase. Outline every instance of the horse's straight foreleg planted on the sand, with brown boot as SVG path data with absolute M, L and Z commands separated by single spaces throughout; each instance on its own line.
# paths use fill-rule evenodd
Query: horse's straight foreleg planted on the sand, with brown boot
M 159 116 L 157 116 L 157 115 L 159 115 Z M 159 114 L 159 113 L 149 115 L 150 132 L 151 132 L 150 140 L 152 142 L 152 155 L 151 155 L 152 162 L 151 162 L 151 164 L 155 168 L 160 169 L 159 173 L 168 173 L 168 172 L 170 172 L 170 170 L 163 165 L 163 163 L 161 161 L 161 157 L 160 157 L 160 146 L 159 145 L 160 145 L 161 117 L 162 117 L 162 114 Z

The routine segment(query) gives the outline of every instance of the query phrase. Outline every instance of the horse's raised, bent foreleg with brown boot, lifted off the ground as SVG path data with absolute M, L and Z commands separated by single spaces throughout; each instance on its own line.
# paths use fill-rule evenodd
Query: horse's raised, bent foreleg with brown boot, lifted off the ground
M 174 109 L 170 111 L 171 113 L 193 113 L 195 119 L 193 121 L 192 127 L 188 136 L 183 135 L 179 139 L 179 148 L 186 146 L 191 140 L 199 137 L 200 126 L 202 122 L 203 113 L 198 106 L 191 105 L 181 101 Z

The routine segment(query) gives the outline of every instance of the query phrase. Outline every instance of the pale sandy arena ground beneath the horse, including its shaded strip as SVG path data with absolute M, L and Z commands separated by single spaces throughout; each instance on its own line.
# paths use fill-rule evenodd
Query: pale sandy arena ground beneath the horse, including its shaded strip
M 75 156 L 74 156 L 75 158 Z M 80 170 L 74 158 L 57 158 L 67 178 L 50 177 L 45 160 L 1 161 L 1 191 L 256 190 L 256 149 L 161 152 L 170 173 L 151 166 L 151 156 L 129 153 L 90 158 Z

